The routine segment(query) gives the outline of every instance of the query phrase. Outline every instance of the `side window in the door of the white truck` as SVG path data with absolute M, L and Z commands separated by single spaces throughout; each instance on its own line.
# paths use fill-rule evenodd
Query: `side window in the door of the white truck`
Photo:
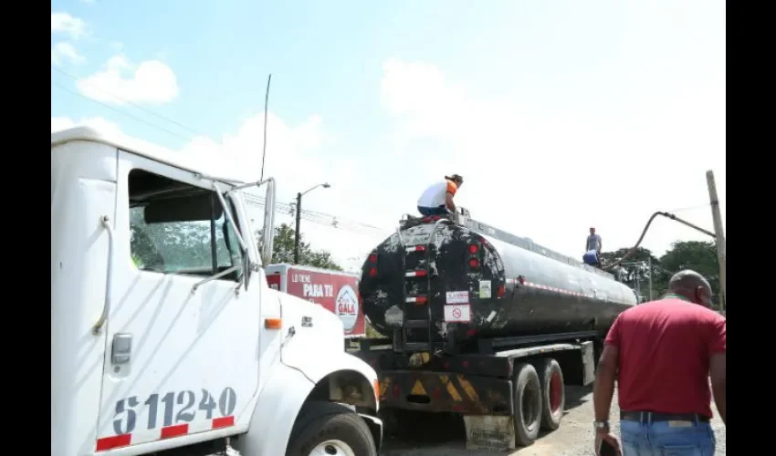
M 134 170 L 130 201 L 131 260 L 138 269 L 210 276 L 242 264 L 240 244 L 215 192 Z M 240 274 L 224 279 L 239 280 Z

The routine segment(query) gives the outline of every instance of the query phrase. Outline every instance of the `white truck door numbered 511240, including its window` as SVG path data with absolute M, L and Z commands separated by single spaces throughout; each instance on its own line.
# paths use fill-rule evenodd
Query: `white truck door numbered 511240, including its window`
M 97 450 L 246 430 L 264 287 L 212 182 L 121 150 L 118 182 Z

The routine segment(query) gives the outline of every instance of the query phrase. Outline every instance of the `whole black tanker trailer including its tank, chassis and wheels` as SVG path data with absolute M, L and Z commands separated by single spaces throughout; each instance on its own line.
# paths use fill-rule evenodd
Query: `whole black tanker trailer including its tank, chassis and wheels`
M 362 306 L 390 347 L 369 341 L 361 356 L 383 408 L 461 413 L 472 447 L 528 445 L 560 426 L 564 384 L 592 383 L 595 352 L 636 295 L 528 238 L 451 218 L 405 220 L 367 257 Z

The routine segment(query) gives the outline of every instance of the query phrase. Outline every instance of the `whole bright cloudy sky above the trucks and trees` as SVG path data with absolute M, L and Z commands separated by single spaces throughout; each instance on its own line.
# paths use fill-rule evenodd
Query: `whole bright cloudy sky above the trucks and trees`
M 265 173 L 285 203 L 330 182 L 301 232 L 346 268 L 451 173 L 472 218 L 581 258 L 655 211 L 711 230 L 708 170 L 726 220 L 726 46 L 717 0 L 53 0 L 51 130 L 258 180 L 271 73 Z M 661 218 L 642 246 L 688 240 Z

